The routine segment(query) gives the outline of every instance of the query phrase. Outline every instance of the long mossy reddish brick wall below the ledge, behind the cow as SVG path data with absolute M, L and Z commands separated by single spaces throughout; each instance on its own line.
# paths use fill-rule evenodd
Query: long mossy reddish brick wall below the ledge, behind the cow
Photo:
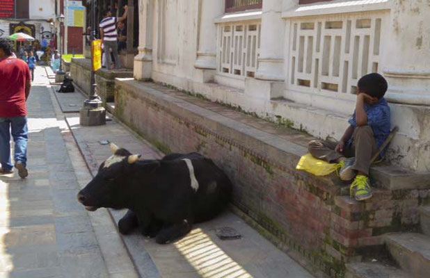
M 175 90 L 144 84 L 116 81 L 117 117 L 165 153 L 212 158 L 234 183 L 234 205 L 311 268 L 343 277 L 344 263 L 381 249 L 381 234 L 417 229 L 417 206 L 428 190 L 375 189 L 369 202 L 356 202 L 336 177 L 296 171 L 296 154 L 247 135 L 239 124 L 209 120 L 198 106 L 172 99 Z

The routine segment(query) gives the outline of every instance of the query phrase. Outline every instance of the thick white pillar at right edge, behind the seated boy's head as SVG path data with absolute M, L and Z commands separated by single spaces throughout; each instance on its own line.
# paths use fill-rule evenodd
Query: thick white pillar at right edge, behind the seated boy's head
M 430 6 L 427 1 L 392 1 L 385 37 L 383 74 L 387 99 L 430 106 Z

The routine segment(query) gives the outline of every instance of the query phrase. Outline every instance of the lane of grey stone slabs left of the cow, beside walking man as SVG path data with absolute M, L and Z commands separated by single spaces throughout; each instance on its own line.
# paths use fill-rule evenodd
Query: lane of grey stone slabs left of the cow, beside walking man
M 38 67 L 29 177 L 0 176 L 0 277 L 138 277 L 109 213 L 88 215 L 76 201 L 90 174 L 47 84 Z

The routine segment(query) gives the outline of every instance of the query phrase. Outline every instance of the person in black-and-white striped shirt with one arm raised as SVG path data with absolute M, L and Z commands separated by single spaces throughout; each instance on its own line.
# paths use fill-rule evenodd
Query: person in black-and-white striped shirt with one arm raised
M 113 59 L 115 60 L 116 69 L 120 70 L 121 63 L 118 56 L 118 34 L 116 32 L 116 24 L 123 22 L 127 19 L 128 7 L 124 6 L 124 14 L 122 17 L 112 17 L 112 13 L 108 10 L 104 19 L 99 24 L 100 33 L 102 34 L 102 41 L 104 45 L 104 53 L 106 56 L 106 69 L 111 70 L 111 51 Z

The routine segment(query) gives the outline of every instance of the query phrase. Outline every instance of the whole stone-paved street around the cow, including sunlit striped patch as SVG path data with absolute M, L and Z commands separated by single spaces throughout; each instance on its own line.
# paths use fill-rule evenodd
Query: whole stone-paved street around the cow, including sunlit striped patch
M 237 215 L 198 224 L 170 245 L 116 230 L 125 211 L 88 213 L 76 200 L 109 140 L 144 158 L 162 156 L 116 120 L 79 126 L 83 96 L 54 94 L 45 68 L 35 72 L 29 98 L 29 177 L 0 176 L 0 278 L 3 277 L 312 277 Z M 76 108 L 76 109 L 71 109 Z M 65 113 L 72 112 L 72 113 Z M 241 240 L 216 237 L 233 227 Z

